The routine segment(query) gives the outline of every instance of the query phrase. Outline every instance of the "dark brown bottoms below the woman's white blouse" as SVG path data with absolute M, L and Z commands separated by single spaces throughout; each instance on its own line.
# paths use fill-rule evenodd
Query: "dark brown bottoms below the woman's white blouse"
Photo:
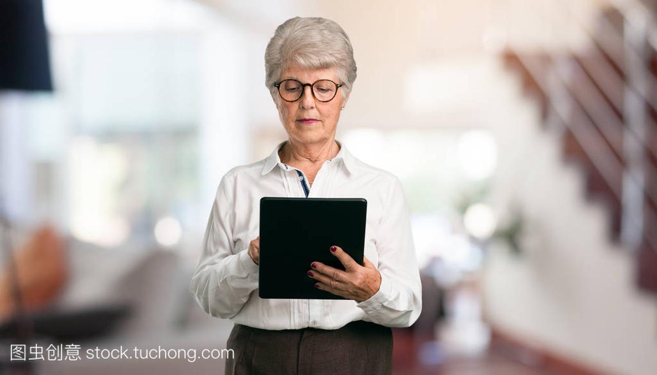
M 392 330 L 357 320 L 336 330 L 261 330 L 236 324 L 227 375 L 392 374 Z

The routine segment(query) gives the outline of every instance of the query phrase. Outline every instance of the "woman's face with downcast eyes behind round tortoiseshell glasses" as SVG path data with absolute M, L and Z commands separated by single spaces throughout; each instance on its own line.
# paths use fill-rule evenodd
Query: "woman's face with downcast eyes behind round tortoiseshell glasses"
M 338 79 L 334 68 L 302 69 L 292 66 L 284 70 L 283 79 L 296 79 L 301 83 L 315 83 L 320 79 L 330 79 L 335 83 L 343 83 Z M 283 89 L 283 87 L 281 87 Z M 279 95 L 276 93 L 276 95 Z M 303 144 L 321 144 L 332 141 L 340 118 L 340 109 L 347 103 L 349 95 L 343 95 L 339 87 L 335 97 L 330 102 L 315 100 L 311 88 L 304 87 L 304 95 L 296 102 L 286 102 L 280 96 L 277 100 L 279 116 L 290 141 Z

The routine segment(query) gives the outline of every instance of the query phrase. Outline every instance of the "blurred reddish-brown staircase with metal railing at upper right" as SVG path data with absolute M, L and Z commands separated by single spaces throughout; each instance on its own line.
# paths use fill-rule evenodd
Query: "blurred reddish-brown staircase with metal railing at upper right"
M 608 209 L 610 238 L 635 253 L 637 285 L 657 294 L 657 23 L 648 9 L 609 7 L 593 28 L 572 20 L 586 47 L 509 47 L 503 58 L 544 126 L 560 133 L 564 160 L 581 166 L 587 198 Z

